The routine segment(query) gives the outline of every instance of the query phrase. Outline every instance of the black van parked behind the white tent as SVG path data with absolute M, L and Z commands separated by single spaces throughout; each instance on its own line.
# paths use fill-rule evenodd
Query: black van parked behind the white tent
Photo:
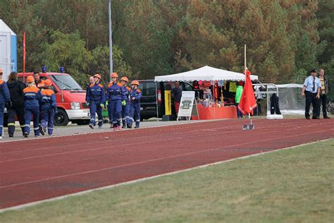
M 174 82 L 154 82 L 154 80 L 139 80 L 142 98 L 140 99 L 140 119 L 161 118 L 165 114 L 165 90 L 172 90 Z M 185 91 L 192 91 L 192 85 L 187 82 L 180 82 L 180 88 Z M 158 101 L 158 103 L 156 103 Z M 172 116 L 175 117 L 175 108 L 172 98 Z M 156 111 L 158 107 L 158 112 Z M 176 118 L 175 118 L 176 119 Z

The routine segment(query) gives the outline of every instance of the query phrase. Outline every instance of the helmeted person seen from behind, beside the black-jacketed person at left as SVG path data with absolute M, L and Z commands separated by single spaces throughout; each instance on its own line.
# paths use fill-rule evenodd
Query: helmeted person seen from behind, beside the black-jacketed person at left
M 39 136 L 39 102 L 42 100 L 42 93 L 35 85 L 32 76 L 27 77 L 27 88 L 23 90 L 25 95 L 25 138 L 30 134 L 30 121 L 33 116 L 34 133 Z

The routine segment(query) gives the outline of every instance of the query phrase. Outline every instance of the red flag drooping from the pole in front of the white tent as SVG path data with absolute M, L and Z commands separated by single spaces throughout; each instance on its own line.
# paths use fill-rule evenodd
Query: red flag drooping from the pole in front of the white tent
M 252 86 L 252 80 L 250 79 L 251 73 L 246 70 L 246 83 L 244 90 L 242 90 L 242 95 L 239 103 L 239 110 L 242 114 L 253 114 L 254 108 L 256 108 L 256 100 L 254 95 L 254 90 Z

